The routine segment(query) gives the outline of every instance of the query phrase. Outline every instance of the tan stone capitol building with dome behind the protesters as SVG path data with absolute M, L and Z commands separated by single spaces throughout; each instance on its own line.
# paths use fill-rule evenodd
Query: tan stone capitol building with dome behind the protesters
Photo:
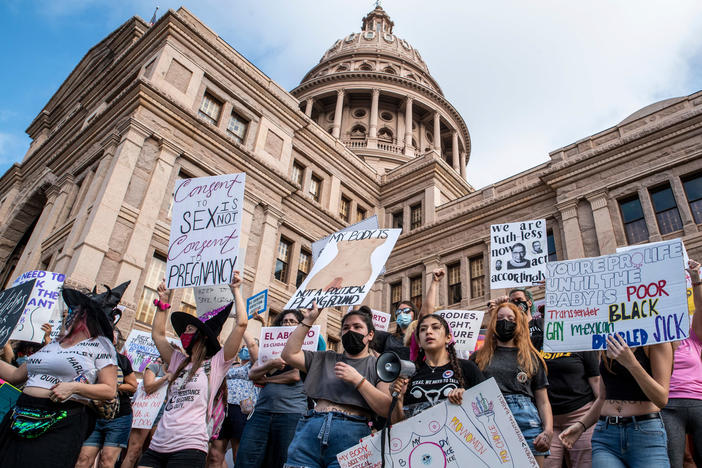
M 0 178 L 3 286 L 33 269 L 74 287 L 131 280 L 119 326 L 148 330 L 176 179 L 234 172 L 246 172 L 243 292 L 268 288 L 270 316 L 310 271 L 312 242 L 374 215 L 403 230 L 366 300 L 387 312 L 419 304 L 437 267 L 442 307 L 504 294 L 488 275 L 496 223 L 545 218 L 550 260 L 676 237 L 702 256 L 702 91 L 475 189 L 467 123 L 381 7 L 310 66 L 286 90 L 185 8 L 126 21 L 76 65 Z M 193 312 L 193 291 L 171 303 Z M 336 347 L 341 311 L 323 317 Z

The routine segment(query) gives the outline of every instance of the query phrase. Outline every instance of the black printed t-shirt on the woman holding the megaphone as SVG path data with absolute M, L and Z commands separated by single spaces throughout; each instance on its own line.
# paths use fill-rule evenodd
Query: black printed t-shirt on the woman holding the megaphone
M 463 373 L 463 388 L 471 388 L 483 380 L 485 376 L 472 361 L 458 360 Z M 451 390 L 459 388 L 458 378 L 451 368 L 451 363 L 440 367 L 430 367 L 422 363 L 410 379 L 403 400 L 407 417 L 423 411 L 445 400 Z

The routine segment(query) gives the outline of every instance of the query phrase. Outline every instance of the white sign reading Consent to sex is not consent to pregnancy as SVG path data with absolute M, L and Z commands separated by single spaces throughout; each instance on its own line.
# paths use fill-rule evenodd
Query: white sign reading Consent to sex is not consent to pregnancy
M 168 289 L 229 284 L 239 253 L 246 174 L 176 181 Z

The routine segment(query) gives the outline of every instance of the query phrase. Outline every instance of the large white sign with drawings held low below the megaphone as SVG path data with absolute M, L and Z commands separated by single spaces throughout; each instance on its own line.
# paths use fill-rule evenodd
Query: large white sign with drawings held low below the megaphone
M 380 468 L 381 437 L 364 437 L 339 453 L 341 468 Z M 387 438 L 387 436 L 385 435 Z M 511 468 L 537 467 L 529 445 L 491 378 L 463 394 L 463 404 L 444 400 L 392 426 L 385 466 Z

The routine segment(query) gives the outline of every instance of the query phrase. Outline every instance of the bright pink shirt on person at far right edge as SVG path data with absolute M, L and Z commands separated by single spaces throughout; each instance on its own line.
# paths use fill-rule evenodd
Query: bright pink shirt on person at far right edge
M 702 341 L 690 329 L 690 337 L 675 350 L 669 398 L 702 400 Z

